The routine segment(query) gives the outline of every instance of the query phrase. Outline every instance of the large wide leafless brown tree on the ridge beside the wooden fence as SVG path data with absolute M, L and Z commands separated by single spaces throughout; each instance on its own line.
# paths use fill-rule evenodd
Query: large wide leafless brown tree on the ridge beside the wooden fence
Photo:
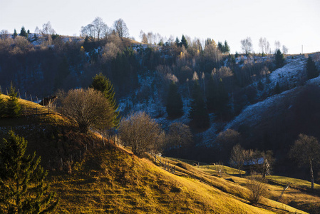
M 100 91 L 72 89 L 59 97 L 61 113 L 77 123 L 82 133 L 87 133 L 89 128 L 110 128 L 114 111 Z

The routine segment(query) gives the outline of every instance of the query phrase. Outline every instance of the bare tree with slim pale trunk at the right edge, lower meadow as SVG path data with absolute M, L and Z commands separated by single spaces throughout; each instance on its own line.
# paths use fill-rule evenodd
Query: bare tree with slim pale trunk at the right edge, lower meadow
M 291 147 L 289 155 L 298 161 L 300 166 L 308 165 L 310 169 L 311 189 L 314 189 L 314 166 L 320 161 L 320 143 L 314 136 L 299 134 Z

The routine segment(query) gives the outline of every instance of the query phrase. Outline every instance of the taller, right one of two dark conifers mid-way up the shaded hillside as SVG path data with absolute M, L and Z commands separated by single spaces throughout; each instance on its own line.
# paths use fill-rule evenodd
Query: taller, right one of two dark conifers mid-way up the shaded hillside
M 197 128 L 207 128 L 210 126 L 210 118 L 207 113 L 207 106 L 202 96 L 202 90 L 198 81 L 195 81 L 195 85 L 192 91 L 192 101 L 190 104 L 189 118 L 191 123 Z

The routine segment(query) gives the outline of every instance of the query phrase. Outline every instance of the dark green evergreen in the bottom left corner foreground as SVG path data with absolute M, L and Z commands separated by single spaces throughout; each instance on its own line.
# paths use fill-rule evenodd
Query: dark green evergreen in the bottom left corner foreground
M 49 193 L 36 153 L 26 156 L 27 141 L 9 131 L 0 149 L 0 207 L 4 213 L 48 213 L 58 204 Z

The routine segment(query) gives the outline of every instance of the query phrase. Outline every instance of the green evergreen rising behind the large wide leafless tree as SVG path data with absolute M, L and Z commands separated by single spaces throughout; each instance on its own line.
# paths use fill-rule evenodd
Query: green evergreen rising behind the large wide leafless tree
M 93 81 L 91 83 L 91 88 L 101 91 L 103 93 L 103 96 L 108 99 L 108 102 L 110 104 L 110 107 L 113 109 L 113 124 L 110 127 L 118 128 L 120 123 L 120 116 L 118 111 L 118 105 L 115 101 L 115 91 L 113 90 L 113 85 L 111 81 L 103 76 L 102 73 L 97 74 L 95 77 L 93 77 Z

